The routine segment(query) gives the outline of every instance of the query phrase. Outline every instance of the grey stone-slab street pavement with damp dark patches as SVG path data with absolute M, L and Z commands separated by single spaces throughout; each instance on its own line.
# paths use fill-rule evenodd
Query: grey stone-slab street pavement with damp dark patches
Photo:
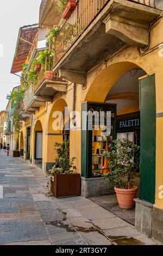
M 0 153 L 0 245 L 154 245 L 146 235 L 82 197 L 56 199 L 41 169 Z

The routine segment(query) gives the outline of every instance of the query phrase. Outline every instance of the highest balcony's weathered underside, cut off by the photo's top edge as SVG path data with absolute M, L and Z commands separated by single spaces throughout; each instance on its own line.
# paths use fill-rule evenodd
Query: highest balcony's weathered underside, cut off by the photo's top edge
M 40 5 L 39 26 L 52 29 L 53 25 L 58 25 L 61 14 L 58 11 L 59 0 L 42 0 Z

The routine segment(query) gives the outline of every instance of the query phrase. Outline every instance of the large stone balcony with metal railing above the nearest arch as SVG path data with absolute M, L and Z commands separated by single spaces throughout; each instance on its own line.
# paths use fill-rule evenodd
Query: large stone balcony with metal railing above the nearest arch
M 162 16 L 159 5 L 154 0 L 78 0 L 53 40 L 53 71 L 84 84 L 86 72 L 111 52 L 125 44 L 147 46 L 149 26 Z

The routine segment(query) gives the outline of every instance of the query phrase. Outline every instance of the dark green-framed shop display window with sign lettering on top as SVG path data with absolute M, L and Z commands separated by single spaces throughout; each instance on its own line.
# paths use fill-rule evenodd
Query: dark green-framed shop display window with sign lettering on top
M 92 120 L 85 116 L 91 111 L 96 117 L 104 113 L 111 114 L 111 125 L 108 132 L 104 132 L 106 118 L 101 123 L 100 118 Z M 98 120 L 98 121 L 97 121 Z M 97 126 L 99 129 L 97 129 Z M 116 139 L 116 104 L 85 102 L 82 105 L 82 176 L 95 178 L 109 172 L 108 160 L 104 159 L 103 152 Z

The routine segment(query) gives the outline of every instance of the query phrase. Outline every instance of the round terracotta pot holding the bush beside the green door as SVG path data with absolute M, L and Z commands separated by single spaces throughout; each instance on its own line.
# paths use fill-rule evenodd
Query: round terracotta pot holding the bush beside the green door
M 136 197 L 137 186 L 133 186 L 129 190 L 123 188 L 114 188 L 118 200 L 118 204 L 122 209 L 132 209 L 135 206 L 134 198 Z

